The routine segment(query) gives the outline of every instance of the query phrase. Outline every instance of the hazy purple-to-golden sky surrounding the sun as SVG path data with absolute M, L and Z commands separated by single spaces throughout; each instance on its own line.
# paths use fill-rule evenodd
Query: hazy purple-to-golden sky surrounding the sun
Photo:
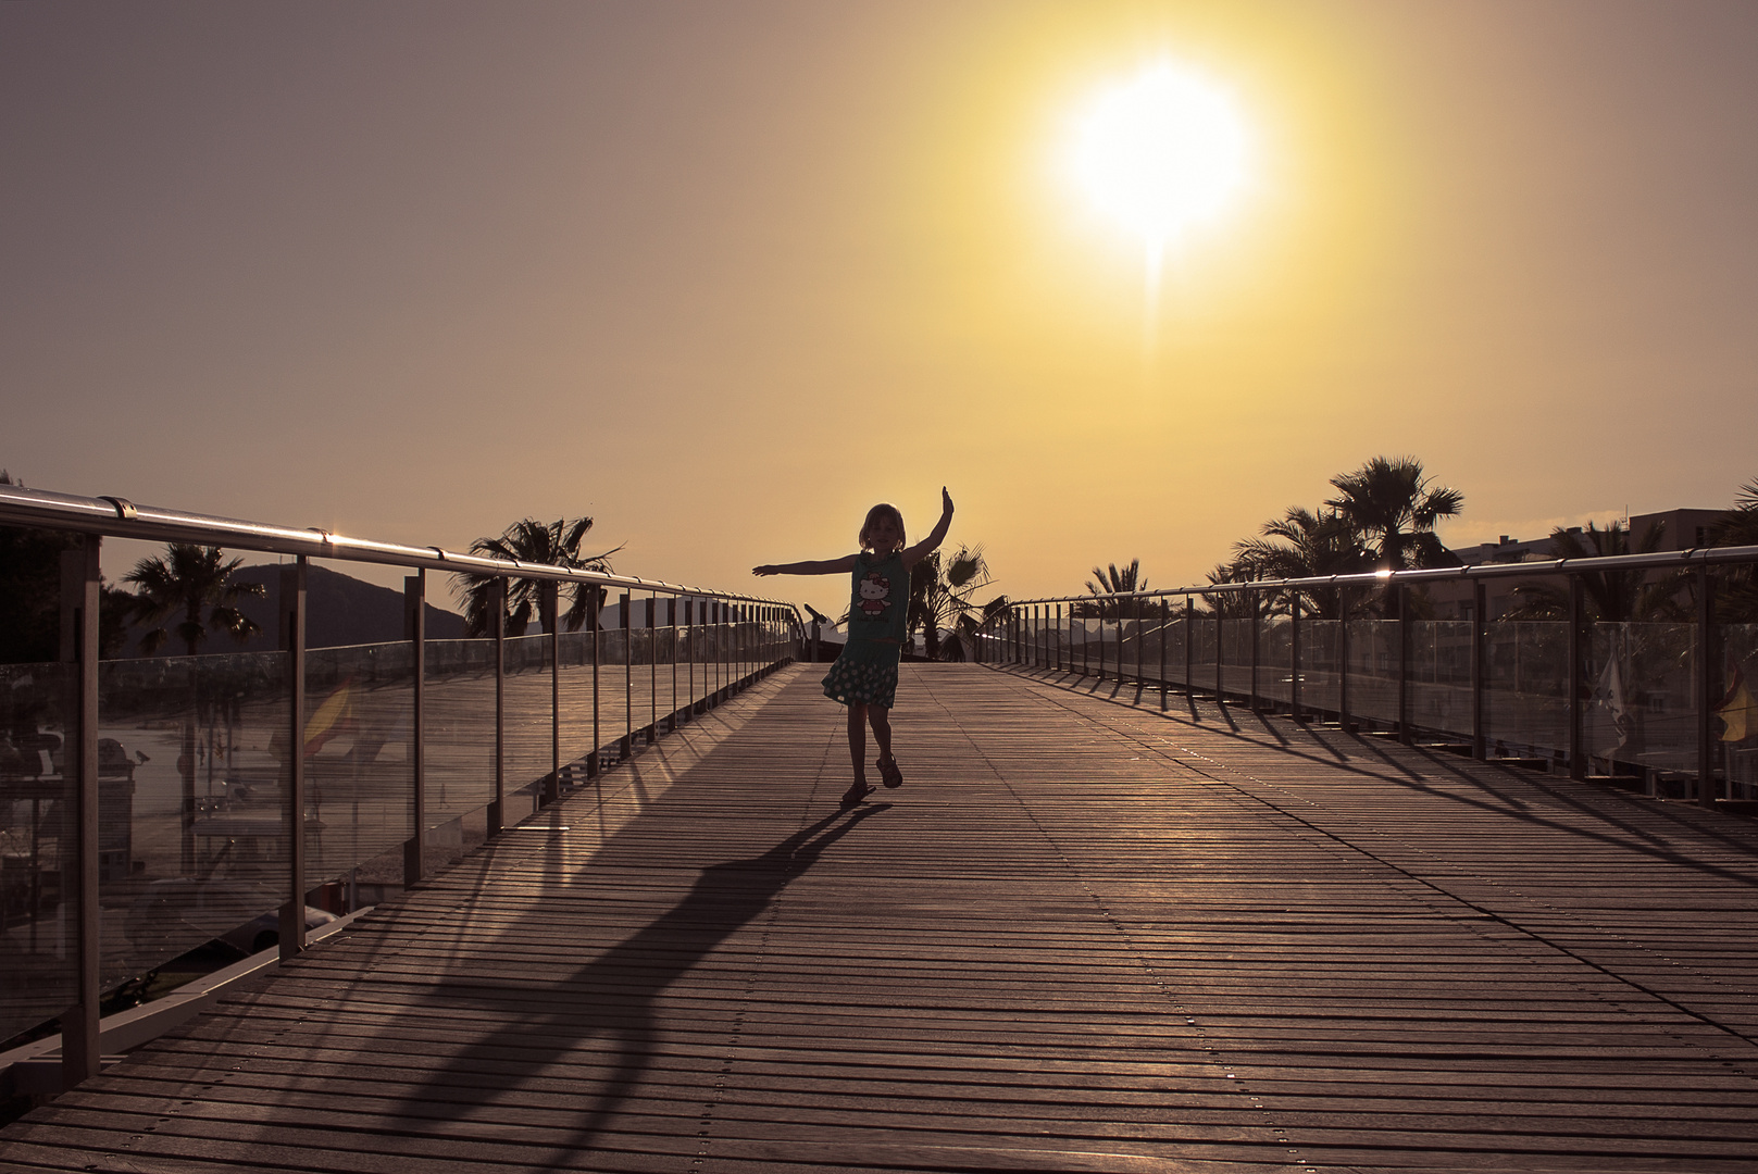
M 1060 160 L 1162 58 L 1255 169 L 1150 359 Z M 1753 62 L 1749 0 L 5 4 L 0 466 L 447 547 L 589 513 L 825 610 L 749 568 L 942 483 L 1014 596 L 1199 580 L 1375 453 L 1452 545 L 1725 506 Z

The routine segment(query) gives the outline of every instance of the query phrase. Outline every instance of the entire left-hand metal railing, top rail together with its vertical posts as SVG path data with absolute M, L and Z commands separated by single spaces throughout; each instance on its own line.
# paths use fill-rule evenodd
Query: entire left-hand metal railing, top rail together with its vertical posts
M 561 583 L 587 583 L 592 587 L 621 589 L 621 627 L 628 633 L 633 627 L 633 596 L 640 591 L 647 598 L 647 624 L 656 627 L 657 596 L 672 596 L 670 627 L 679 627 L 679 605 L 684 610 L 684 624 L 689 627 L 730 627 L 730 643 L 717 645 L 714 659 L 712 687 L 707 663 L 703 664 L 703 698 L 694 698 L 691 685 L 691 710 L 696 705 L 716 705 L 731 696 L 749 682 L 788 663 L 791 627 L 793 641 L 807 640 L 805 619 L 793 603 L 752 596 L 745 592 L 708 591 L 686 587 L 661 580 L 640 578 L 635 575 L 614 575 L 605 571 L 587 571 L 570 566 L 543 562 L 524 562 L 517 559 L 490 559 L 476 554 L 445 550 L 443 547 L 408 547 L 403 543 L 385 543 L 367 538 L 353 538 L 318 527 L 294 529 L 264 522 L 248 522 L 209 513 L 192 513 L 186 510 L 165 510 L 160 506 L 142 506 L 127 497 L 81 497 L 76 494 L 58 494 L 23 485 L 0 485 L 0 525 L 30 525 L 53 531 L 74 531 L 91 534 L 98 540 L 134 538 L 165 543 L 200 543 L 225 547 L 232 550 L 257 550 L 267 554 L 292 555 L 294 564 L 281 568 L 281 636 L 287 657 L 288 689 L 288 745 L 301 745 L 306 738 L 306 573 L 309 559 L 339 559 L 352 562 L 373 562 L 383 566 L 403 566 L 420 571 L 404 580 L 404 605 L 410 617 L 410 640 L 415 647 L 413 668 L 413 703 L 411 703 L 411 805 L 413 838 L 404 844 L 404 879 L 415 882 L 422 879 L 422 844 L 427 833 L 424 817 L 424 610 L 425 610 L 425 571 L 475 573 L 490 576 L 496 582 L 498 598 L 505 599 L 505 580 L 543 580 L 547 592 L 547 612 L 557 613 L 556 592 Z M 65 743 L 65 773 L 77 784 L 72 796 L 74 807 L 74 875 L 70 877 L 76 900 L 74 909 L 74 954 L 77 993 L 74 1005 L 62 1016 L 62 1072 L 63 1084 L 72 1086 L 100 1067 L 100 1023 L 98 1023 L 98 605 L 100 605 L 100 555 L 102 541 L 86 541 L 83 548 L 67 552 L 62 559 L 62 606 L 63 606 L 63 649 L 62 659 L 72 661 L 76 670 L 74 703 L 69 714 L 69 733 Z M 501 808 L 505 800 L 505 710 L 501 689 L 505 684 L 505 629 L 499 615 L 501 608 L 490 608 L 498 619 L 490 634 L 496 654 L 496 707 L 494 707 L 494 800 L 489 803 L 489 833 L 501 830 Z M 768 631 L 768 638 L 759 638 Z M 547 624 L 550 638 L 550 722 L 552 722 L 552 772 L 543 780 L 543 800 L 559 798 L 561 775 L 561 715 L 559 715 L 559 626 Z M 738 633 L 749 629 L 747 641 Z M 598 773 L 598 756 L 605 749 L 598 726 L 598 634 L 592 624 L 592 747 L 589 750 L 587 773 Z M 694 677 L 694 659 L 691 673 Z M 622 756 L 633 754 L 633 698 L 631 689 L 633 663 L 624 666 L 624 701 L 629 729 L 619 740 Z M 673 645 L 673 707 L 668 715 L 670 728 L 675 729 L 680 710 L 677 708 L 677 650 Z M 657 675 L 652 680 L 652 726 L 645 728 L 649 740 L 659 735 L 659 696 Z M 304 917 L 304 756 L 292 754 L 287 779 L 287 835 L 288 835 L 288 870 L 287 902 L 281 909 L 281 956 L 288 958 L 306 942 Z

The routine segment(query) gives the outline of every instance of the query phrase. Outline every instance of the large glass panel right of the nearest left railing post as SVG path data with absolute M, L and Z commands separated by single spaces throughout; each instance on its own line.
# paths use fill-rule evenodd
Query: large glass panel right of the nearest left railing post
M 272 917 L 285 900 L 287 664 L 285 652 L 98 664 L 105 988 Z M 306 821 L 318 826 L 313 808 Z

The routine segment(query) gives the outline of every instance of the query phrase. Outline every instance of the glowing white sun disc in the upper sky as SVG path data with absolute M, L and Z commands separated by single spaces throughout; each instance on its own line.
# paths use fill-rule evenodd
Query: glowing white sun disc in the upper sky
M 1076 185 L 1141 237 L 1150 267 L 1245 186 L 1250 137 L 1232 98 L 1206 77 L 1157 63 L 1093 95 L 1069 153 Z

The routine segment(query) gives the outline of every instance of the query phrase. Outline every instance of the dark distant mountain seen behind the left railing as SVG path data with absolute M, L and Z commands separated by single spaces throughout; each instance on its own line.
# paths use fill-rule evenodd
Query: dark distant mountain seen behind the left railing
M 272 652 L 280 647 L 281 626 L 276 619 L 281 612 L 281 568 L 272 564 L 241 566 L 234 576 L 244 583 L 262 583 L 267 596 L 246 596 L 239 601 L 239 612 L 262 627 L 260 636 L 251 636 L 243 645 L 236 645 L 225 636 L 209 638 L 202 643 L 202 652 Z M 448 576 L 427 576 L 429 599 L 436 594 L 450 596 Z M 172 624 L 176 620 L 169 620 Z M 128 631 L 128 645 L 123 656 L 141 656 L 139 624 Z M 462 640 L 464 617 L 445 612 L 432 603 L 427 605 L 429 640 Z M 403 640 L 403 592 L 390 587 L 367 583 L 352 575 L 332 571 L 327 566 L 311 566 L 306 571 L 306 647 L 332 649 L 353 643 L 389 643 Z M 183 647 L 172 636 L 162 654 L 181 654 Z

